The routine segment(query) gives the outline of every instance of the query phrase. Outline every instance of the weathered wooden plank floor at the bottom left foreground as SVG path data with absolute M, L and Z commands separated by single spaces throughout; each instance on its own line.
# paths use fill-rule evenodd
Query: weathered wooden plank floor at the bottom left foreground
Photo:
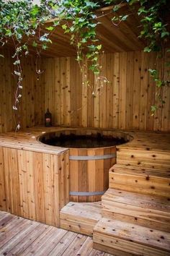
M 0 255 L 109 256 L 92 244 L 89 236 L 0 211 Z

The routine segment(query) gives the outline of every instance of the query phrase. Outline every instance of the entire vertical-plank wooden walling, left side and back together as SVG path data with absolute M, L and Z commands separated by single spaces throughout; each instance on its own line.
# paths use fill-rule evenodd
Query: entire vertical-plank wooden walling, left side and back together
M 158 89 L 148 68 L 156 68 L 155 54 L 143 51 L 103 54 L 100 59 L 102 80 L 97 80 L 85 67 L 81 73 L 75 57 L 42 57 L 38 66 L 44 72 L 40 75 L 35 72 L 35 56 L 23 58 L 22 99 L 20 111 L 16 112 L 12 110 L 16 88 L 12 53 L 3 51 L 0 132 L 15 129 L 18 114 L 22 129 L 43 124 L 47 108 L 53 114 L 54 125 L 170 130 L 170 88 L 162 92 L 166 101 L 164 107 L 151 116 L 151 105 L 156 102 Z M 109 83 L 104 82 L 104 77 Z

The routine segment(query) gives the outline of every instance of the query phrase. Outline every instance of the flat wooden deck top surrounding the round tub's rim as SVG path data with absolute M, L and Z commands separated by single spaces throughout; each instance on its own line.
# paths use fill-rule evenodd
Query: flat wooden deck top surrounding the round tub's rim
M 37 137 L 45 132 L 55 132 L 63 129 L 77 129 L 68 127 L 32 127 L 25 131 L 6 132 L 0 134 L 0 145 L 6 148 L 17 148 L 22 150 L 32 150 L 35 152 L 61 154 L 67 148 L 53 147 L 42 144 L 37 140 Z M 80 129 L 80 128 L 79 128 Z M 86 128 L 81 128 L 86 129 Z M 88 129 L 88 128 L 87 128 Z M 95 128 L 90 128 L 95 129 Z M 98 128 L 99 129 L 99 128 Z M 99 129 L 100 130 L 100 129 Z M 135 131 L 135 130 L 119 130 L 119 129 L 104 129 L 112 132 L 125 132 L 133 136 L 133 140 L 117 148 L 133 148 L 140 150 L 153 150 L 158 152 L 170 152 L 170 135 L 169 132 L 150 132 L 150 131 Z

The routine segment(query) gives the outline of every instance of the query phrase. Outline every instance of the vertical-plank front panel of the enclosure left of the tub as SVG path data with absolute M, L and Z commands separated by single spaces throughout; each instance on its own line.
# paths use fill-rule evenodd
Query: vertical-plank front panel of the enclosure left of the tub
M 68 153 L 50 155 L 3 148 L 2 161 L 1 208 L 17 216 L 59 226 L 60 210 L 69 197 Z

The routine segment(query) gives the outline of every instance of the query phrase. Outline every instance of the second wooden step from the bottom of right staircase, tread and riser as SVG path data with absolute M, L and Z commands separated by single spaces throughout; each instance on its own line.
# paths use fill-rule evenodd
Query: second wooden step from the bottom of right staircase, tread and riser
M 170 231 L 170 200 L 108 189 L 102 196 L 102 216 L 151 229 Z

